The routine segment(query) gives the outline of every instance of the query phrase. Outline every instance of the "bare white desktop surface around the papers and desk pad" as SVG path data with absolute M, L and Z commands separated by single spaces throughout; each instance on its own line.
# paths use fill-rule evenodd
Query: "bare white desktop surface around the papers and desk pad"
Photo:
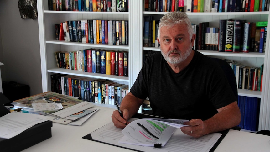
M 98 104 L 95 104 L 98 105 Z M 132 151 L 120 147 L 102 144 L 99 142 L 82 139 L 86 134 L 106 125 L 112 121 L 113 108 L 95 106 L 99 110 L 81 126 L 53 123 L 52 137 L 36 144 L 23 152 L 48 152 L 48 151 Z M 215 152 L 269 152 L 270 136 L 230 130 L 221 141 Z

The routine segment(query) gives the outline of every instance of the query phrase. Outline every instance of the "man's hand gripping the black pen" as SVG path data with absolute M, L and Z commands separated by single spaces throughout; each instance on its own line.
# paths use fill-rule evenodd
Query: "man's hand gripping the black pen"
M 127 122 L 127 119 L 129 118 L 129 112 L 127 109 L 124 109 L 122 111 L 123 117 L 122 118 L 118 112 L 118 110 L 113 111 L 112 113 L 112 122 L 117 128 L 125 128 L 129 122 Z

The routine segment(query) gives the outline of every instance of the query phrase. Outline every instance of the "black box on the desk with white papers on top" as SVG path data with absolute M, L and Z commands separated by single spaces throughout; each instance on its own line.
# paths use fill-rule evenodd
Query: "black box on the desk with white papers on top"
M 22 151 L 52 137 L 52 126 L 52 121 L 48 120 L 43 123 L 36 124 L 10 139 L 0 138 L 1 152 Z

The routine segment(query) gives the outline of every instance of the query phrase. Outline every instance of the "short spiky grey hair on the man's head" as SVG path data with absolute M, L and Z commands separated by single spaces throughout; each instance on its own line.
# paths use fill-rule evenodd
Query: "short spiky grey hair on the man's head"
M 191 26 L 190 19 L 185 12 L 170 12 L 164 14 L 164 16 L 160 19 L 158 24 L 158 38 L 160 36 L 159 29 L 163 26 L 172 27 L 175 24 L 185 24 L 187 26 L 188 32 L 190 34 L 190 39 L 194 34 L 194 31 Z

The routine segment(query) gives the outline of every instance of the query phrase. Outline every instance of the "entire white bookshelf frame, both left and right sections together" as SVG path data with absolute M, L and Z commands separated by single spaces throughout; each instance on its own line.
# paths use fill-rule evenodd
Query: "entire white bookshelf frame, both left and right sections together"
M 43 92 L 50 90 L 50 75 L 63 73 L 76 76 L 94 78 L 106 78 L 118 83 L 132 86 L 143 65 L 143 50 L 159 51 L 159 48 L 143 47 L 143 19 L 144 16 L 160 18 L 165 12 L 145 12 L 143 1 L 129 0 L 129 12 L 72 12 L 72 11 L 49 11 L 48 1 L 38 0 L 39 14 L 39 43 L 41 56 L 41 73 Z M 223 13 L 187 13 L 194 24 L 210 22 L 210 27 L 218 27 L 220 19 L 246 19 L 248 21 L 270 21 L 269 11 L 267 12 L 223 12 Z M 77 42 L 56 41 L 53 25 L 66 20 L 81 19 L 112 19 L 129 21 L 129 45 L 100 45 Z M 264 63 L 264 75 L 262 92 L 238 90 L 238 95 L 261 98 L 259 130 L 270 130 L 270 54 L 269 33 L 267 32 L 267 49 L 265 53 L 225 53 L 217 51 L 200 51 L 205 55 L 226 58 L 239 61 L 247 66 L 260 66 Z M 90 47 L 108 50 L 127 50 L 129 52 L 129 77 L 110 76 L 104 74 L 87 73 L 81 71 L 59 69 L 55 62 L 55 51 L 82 50 Z M 139 109 L 142 112 L 142 108 Z

